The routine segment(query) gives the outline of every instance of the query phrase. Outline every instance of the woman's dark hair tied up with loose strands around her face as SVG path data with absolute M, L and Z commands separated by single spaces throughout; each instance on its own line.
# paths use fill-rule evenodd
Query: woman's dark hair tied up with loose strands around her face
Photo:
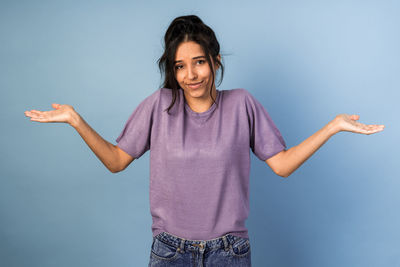
M 175 78 L 174 67 L 176 50 L 182 42 L 187 41 L 194 41 L 198 43 L 206 55 L 206 60 L 211 68 L 212 73 L 210 95 L 214 103 L 215 99 L 211 94 L 211 90 L 215 82 L 215 70 L 213 64 L 211 64 L 212 61 L 221 68 L 221 79 L 219 81 L 219 85 L 221 84 L 224 76 L 224 66 L 217 58 L 220 47 L 214 31 L 195 15 L 180 16 L 175 18 L 169 25 L 164 36 L 164 54 L 157 61 L 160 72 L 164 76 L 163 87 L 172 89 L 172 101 L 169 107 L 166 109 L 168 113 L 175 104 L 179 93 L 179 83 Z

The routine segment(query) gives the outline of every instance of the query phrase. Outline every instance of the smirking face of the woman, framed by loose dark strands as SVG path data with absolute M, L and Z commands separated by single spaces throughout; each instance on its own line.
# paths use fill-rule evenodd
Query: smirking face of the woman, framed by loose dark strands
M 174 68 L 175 78 L 184 90 L 187 101 L 210 98 L 212 72 L 198 43 L 188 41 L 178 46 Z M 212 86 L 214 89 L 215 85 Z

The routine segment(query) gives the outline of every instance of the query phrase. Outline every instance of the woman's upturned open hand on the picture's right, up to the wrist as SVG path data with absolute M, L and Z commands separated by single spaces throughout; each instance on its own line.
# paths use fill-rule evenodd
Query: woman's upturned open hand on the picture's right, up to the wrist
M 363 124 L 357 122 L 359 115 L 339 114 L 333 120 L 337 131 L 347 131 L 360 134 L 373 134 L 383 131 L 385 125 Z

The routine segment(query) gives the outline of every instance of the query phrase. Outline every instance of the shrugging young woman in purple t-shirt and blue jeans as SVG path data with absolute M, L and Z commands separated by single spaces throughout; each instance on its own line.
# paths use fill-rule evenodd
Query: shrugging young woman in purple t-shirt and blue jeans
M 149 266 L 250 266 L 250 149 L 288 177 L 340 131 L 372 134 L 383 125 L 337 115 L 301 144 L 286 144 L 263 106 L 245 89 L 217 90 L 220 47 L 197 16 L 175 18 L 159 67 L 164 88 L 144 99 L 111 144 L 70 105 L 26 111 L 38 122 L 74 127 L 113 173 L 150 153 L 153 243 Z M 249 149 L 250 148 L 250 149 Z

